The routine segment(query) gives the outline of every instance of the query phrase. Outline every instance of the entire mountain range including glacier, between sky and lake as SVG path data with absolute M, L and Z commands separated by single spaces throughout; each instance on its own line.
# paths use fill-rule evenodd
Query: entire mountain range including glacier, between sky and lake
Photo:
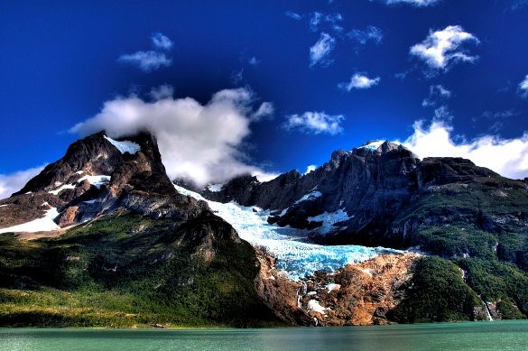
M 153 135 L 101 132 L 0 200 L 0 326 L 525 318 L 527 205 L 521 180 L 389 142 L 198 189 Z

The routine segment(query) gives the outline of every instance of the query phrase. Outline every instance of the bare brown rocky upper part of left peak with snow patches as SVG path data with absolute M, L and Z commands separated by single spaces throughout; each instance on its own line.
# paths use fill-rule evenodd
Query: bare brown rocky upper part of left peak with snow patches
M 84 222 L 120 207 L 153 218 L 182 220 L 208 209 L 205 203 L 174 189 L 151 134 L 115 141 L 104 132 L 71 144 L 64 157 L 49 164 L 0 205 L 6 205 L 0 207 L 0 228 L 43 217 L 50 207 L 58 208 L 60 217 L 55 221 L 60 226 Z

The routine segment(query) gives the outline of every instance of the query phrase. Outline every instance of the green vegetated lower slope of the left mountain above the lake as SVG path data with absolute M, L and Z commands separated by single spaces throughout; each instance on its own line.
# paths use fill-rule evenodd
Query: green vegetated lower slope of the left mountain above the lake
M 53 239 L 0 235 L 0 326 L 277 325 L 255 292 L 255 251 L 230 230 L 211 215 L 125 213 Z

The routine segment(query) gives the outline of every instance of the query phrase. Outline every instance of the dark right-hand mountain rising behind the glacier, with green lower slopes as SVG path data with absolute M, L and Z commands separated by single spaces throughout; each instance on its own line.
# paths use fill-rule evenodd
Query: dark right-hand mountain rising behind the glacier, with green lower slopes
M 269 209 L 269 223 L 323 245 L 419 247 L 455 263 L 495 318 L 528 312 L 526 183 L 468 160 L 420 160 L 402 145 L 369 142 L 306 175 L 244 176 L 201 193 Z M 399 320 L 437 320 L 424 316 Z

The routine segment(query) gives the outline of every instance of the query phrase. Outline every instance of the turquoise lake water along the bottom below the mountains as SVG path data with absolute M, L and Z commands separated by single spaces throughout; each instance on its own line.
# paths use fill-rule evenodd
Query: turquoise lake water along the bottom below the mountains
M 273 329 L 0 329 L 0 350 L 528 350 L 528 321 Z

